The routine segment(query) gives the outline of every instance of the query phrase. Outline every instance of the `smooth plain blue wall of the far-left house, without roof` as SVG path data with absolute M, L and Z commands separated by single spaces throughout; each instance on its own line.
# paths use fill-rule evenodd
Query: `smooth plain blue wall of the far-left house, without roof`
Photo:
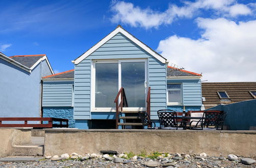
M 40 63 L 29 73 L 0 59 L 0 117 L 41 117 L 41 77 L 45 66 Z

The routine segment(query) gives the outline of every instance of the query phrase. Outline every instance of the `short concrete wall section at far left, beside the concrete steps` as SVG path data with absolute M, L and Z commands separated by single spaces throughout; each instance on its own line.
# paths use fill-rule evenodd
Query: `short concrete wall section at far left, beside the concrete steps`
M 30 129 L 0 129 L 0 157 L 11 155 L 12 145 L 29 144 L 31 141 Z

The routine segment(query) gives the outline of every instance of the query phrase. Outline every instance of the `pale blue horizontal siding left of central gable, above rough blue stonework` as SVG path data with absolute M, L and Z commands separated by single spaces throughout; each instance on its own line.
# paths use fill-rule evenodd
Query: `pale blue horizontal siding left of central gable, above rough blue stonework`
M 42 106 L 72 106 L 73 81 L 43 81 Z

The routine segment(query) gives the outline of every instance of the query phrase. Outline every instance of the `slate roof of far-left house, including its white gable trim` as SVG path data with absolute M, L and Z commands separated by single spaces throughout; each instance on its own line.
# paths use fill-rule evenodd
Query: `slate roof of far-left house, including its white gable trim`
M 54 74 L 52 67 L 47 59 L 46 54 L 36 54 L 36 55 L 14 55 L 9 57 L 10 59 L 28 67 L 33 70 L 41 61 L 46 60 L 52 74 Z

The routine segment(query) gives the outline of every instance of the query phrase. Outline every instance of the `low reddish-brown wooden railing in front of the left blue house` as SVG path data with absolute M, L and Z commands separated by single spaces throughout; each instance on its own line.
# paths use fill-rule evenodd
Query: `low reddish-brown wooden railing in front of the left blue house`
M 13 124 L 13 123 L 5 123 L 3 121 L 24 121 L 24 124 Z M 28 124 L 28 121 L 40 121 L 41 124 Z M 44 124 L 43 121 L 48 121 L 48 123 Z M 59 124 L 53 124 L 54 121 L 60 122 Z M 62 122 L 66 122 L 63 124 Z M 53 127 L 69 127 L 68 119 L 59 119 L 59 118 L 36 118 L 36 117 L 18 117 L 18 118 L 0 118 L 0 127 L 33 127 L 33 128 L 53 128 Z

